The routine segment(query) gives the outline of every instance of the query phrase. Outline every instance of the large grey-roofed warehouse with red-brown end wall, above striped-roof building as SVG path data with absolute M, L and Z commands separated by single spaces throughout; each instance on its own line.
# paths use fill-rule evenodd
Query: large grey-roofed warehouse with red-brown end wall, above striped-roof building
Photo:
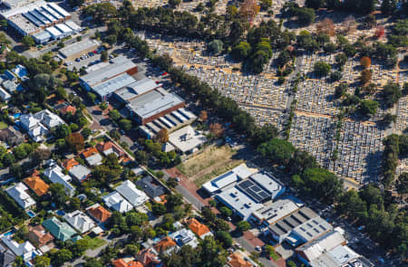
M 146 125 L 172 111 L 183 108 L 184 105 L 184 100 L 176 94 L 158 88 L 129 101 L 126 108 L 131 113 L 131 119 L 138 121 L 141 125 Z

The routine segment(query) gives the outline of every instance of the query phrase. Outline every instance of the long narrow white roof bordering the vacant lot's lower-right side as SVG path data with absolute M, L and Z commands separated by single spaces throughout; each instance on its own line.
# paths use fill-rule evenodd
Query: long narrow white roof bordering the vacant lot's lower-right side
M 238 181 L 238 179 L 245 179 L 253 172 L 248 169 L 245 164 L 241 164 L 238 167 L 233 168 L 225 174 L 215 177 L 211 181 L 205 183 L 202 187 L 209 193 L 216 192 L 225 186 L 231 185 Z

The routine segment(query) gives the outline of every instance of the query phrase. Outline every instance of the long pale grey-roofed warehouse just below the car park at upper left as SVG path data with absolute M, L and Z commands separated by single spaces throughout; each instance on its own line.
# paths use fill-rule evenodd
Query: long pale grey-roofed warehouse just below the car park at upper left
M 111 64 L 108 64 L 93 72 L 88 72 L 88 74 L 80 77 L 81 86 L 86 91 L 92 91 L 94 86 L 102 83 L 103 81 L 111 80 L 112 78 L 123 73 L 133 75 L 138 72 L 138 67 L 136 64 L 124 56 L 114 58 L 111 62 Z M 123 86 L 126 86 L 126 84 Z

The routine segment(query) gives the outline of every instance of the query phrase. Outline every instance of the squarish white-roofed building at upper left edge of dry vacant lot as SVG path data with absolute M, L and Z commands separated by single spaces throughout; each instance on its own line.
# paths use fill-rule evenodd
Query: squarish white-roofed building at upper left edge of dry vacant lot
M 198 148 L 207 141 L 207 138 L 191 126 L 178 129 L 169 135 L 169 142 L 183 153 Z

